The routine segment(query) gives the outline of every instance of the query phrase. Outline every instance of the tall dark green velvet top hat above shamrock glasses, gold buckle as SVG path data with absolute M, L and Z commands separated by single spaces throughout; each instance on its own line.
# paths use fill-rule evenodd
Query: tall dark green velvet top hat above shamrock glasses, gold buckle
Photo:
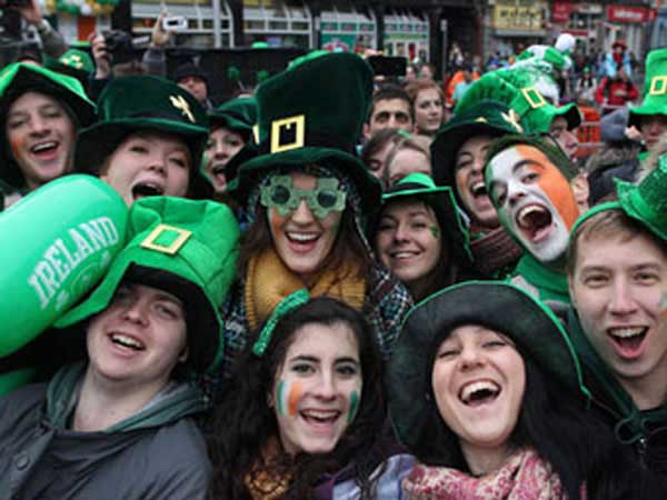
M 372 92 L 372 70 L 354 53 L 313 52 L 257 90 L 259 156 L 241 166 L 235 196 L 246 201 L 260 176 L 278 167 L 319 163 L 347 173 L 367 211 L 380 184 L 356 156 Z

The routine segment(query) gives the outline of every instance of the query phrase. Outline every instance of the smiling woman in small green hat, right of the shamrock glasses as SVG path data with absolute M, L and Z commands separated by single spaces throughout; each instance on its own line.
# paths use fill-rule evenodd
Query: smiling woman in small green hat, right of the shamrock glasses
M 448 187 L 411 173 L 382 194 L 371 228 L 380 261 L 408 288 L 416 302 L 454 284 L 472 261 L 468 231 Z

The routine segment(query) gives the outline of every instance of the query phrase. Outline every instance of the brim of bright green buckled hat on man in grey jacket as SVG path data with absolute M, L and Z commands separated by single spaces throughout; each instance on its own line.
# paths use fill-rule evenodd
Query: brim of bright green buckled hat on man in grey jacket
M 177 262 L 170 254 L 151 252 L 147 258 L 146 251 L 141 247 L 133 247 L 123 250 L 113 261 L 111 269 L 104 276 L 101 283 L 83 302 L 74 306 L 68 312 L 56 321 L 56 328 L 66 328 L 83 321 L 93 314 L 97 314 L 111 303 L 118 286 L 126 277 L 128 271 L 133 267 L 155 269 L 157 271 L 168 270 L 166 272 L 176 274 L 177 277 L 188 276 L 191 273 L 187 263 Z M 178 272 L 179 267 L 183 268 L 183 272 Z M 157 283 L 145 283 L 147 286 L 156 286 Z M 195 283 L 189 282 L 192 289 L 198 290 L 200 297 L 198 306 L 200 306 L 198 318 L 195 319 L 198 326 L 209 326 L 208 331 L 203 328 L 195 328 L 188 324 L 188 346 L 190 347 L 190 358 L 193 360 L 193 366 L 197 371 L 205 372 L 212 370 L 222 359 L 222 346 L 220 339 L 221 319 L 218 313 L 218 308 L 213 304 L 206 292 Z M 163 288 L 157 284 L 157 288 Z M 169 290 L 168 290 L 169 291 Z M 179 293 L 176 293 L 179 296 Z M 193 300 L 195 298 L 192 298 Z M 203 300 L 201 300 L 203 299 Z M 191 320 L 189 318 L 189 320 Z

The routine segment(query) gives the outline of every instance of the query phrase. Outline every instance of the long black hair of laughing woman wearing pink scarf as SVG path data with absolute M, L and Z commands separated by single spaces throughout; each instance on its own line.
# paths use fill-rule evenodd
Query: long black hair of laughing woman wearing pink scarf
M 431 367 L 437 347 L 448 333 L 434 342 L 429 359 Z M 573 397 L 571 389 L 546 373 L 519 346 L 516 349 L 525 363 L 526 388 L 517 424 L 509 437 L 510 444 L 534 448 L 558 474 L 568 498 L 580 499 L 584 482 L 588 492 L 598 488 L 598 474 L 608 467 L 601 462 L 613 462 L 618 446 L 609 429 L 585 412 L 584 404 Z M 415 447 L 416 456 L 428 466 L 452 467 L 469 472 L 458 436 L 440 416 L 430 381 L 426 398 L 429 418 L 424 429 L 428 432 L 421 433 Z M 594 494 L 590 498 L 600 497 Z

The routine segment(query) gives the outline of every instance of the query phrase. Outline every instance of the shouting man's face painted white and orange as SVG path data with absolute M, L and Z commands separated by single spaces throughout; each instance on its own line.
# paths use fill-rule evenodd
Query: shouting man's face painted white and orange
M 487 190 L 502 224 L 540 262 L 564 256 L 578 208 L 569 182 L 537 148 L 515 146 L 488 164 Z

